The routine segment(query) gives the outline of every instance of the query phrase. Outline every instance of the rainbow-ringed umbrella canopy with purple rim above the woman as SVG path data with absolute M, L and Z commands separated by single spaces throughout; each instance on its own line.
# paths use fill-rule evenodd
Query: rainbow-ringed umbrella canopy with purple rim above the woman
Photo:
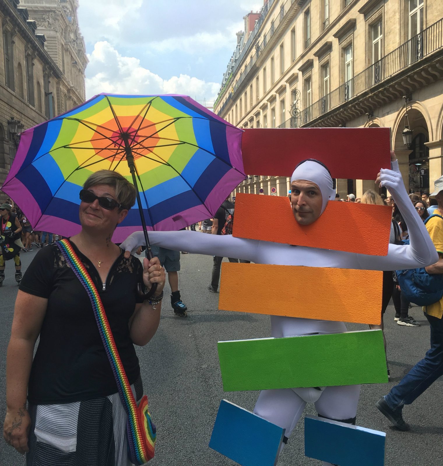
M 35 230 L 71 236 L 86 178 L 106 169 L 132 182 L 132 155 L 147 229 L 178 230 L 212 217 L 245 178 L 241 142 L 242 130 L 188 96 L 100 94 L 24 131 L 2 190 Z M 136 205 L 113 240 L 140 229 Z

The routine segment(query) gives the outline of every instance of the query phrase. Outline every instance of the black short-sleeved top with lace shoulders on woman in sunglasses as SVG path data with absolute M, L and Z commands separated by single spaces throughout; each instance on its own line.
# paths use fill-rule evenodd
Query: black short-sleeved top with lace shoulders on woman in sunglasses
M 76 246 L 80 260 L 102 299 L 129 383 L 140 373 L 128 322 L 143 283 L 141 262 L 123 251 L 112 265 L 104 285 L 97 269 Z M 71 403 L 117 393 L 91 302 L 56 245 L 41 249 L 23 275 L 21 291 L 48 299 L 40 343 L 32 363 L 28 400 L 32 404 Z

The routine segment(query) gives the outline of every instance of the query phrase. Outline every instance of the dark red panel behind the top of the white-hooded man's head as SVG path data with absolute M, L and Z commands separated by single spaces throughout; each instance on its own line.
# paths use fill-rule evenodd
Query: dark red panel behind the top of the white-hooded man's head
M 375 179 L 391 167 L 390 128 L 249 128 L 242 137 L 245 173 L 290 177 L 316 158 L 332 178 Z

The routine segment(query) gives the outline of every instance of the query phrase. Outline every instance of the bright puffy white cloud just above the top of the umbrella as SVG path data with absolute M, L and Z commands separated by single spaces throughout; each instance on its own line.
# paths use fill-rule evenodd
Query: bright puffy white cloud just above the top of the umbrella
M 220 83 L 205 82 L 180 74 L 163 79 L 140 65 L 135 57 L 126 57 L 107 41 L 95 44 L 86 69 L 86 94 L 91 97 L 101 92 L 114 94 L 185 94 L 201 100 L 213 101 Z

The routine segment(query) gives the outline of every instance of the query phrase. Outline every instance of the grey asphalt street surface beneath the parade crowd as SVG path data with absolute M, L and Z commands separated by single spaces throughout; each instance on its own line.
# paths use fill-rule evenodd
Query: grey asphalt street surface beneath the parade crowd
M 36 252 L 22 254 L 24 270 Z M 156 456 L 150 462 L 152 465 L 234 465 L 233 461 L 208 447 L 218 405 L 225 398 L 252 410 L 256 402 L 258 392 L 223 392 L 216 343 L 219 340 L 269 336 L 269 317 L 218 311 L 218 295 L 207 290 L 211 269 L 212 257 L 181 255 L 180 290 L 189 309 L 188 317 L 180 318 L 173 314 L 168 298 L 170 291 L 166 285 L 159 330 L 150 343 L 138 348 L 145 393 L 149 397 L 158 432 Z M 321 283 L 313 283 L 312 286 L 321 287 Z M 352 288 L 352 283 L 349 283 L 349 287 Z M 13 262 L 9 261 L 6 280 L 0 288 L 2 420 L 5 416 L 6 350 L 16 293 Z M 385 326 L 391 380 L 388 384 L 362 387 L 357 425 L 387 432 L 386 466 L 437 466 L 443 464 L 442 378 L 403 410 L 405 420 L 412 427 L 410 432 L 399 432 L 391 427 L 374 407 L 374 403 L 429 348 L 429 325 L 421 308 L 413 307 L 410 311 L 422 324 L 421 327 L 397 325 L 392 302 L 388 307 Z M 367 329 L 367 326 L 348 324 L 348 329 Z M 313 405 L 308 404 L 305 413 L 315 414 Z M 24 464 L 22 456 L 3 441 L 0 442 L 1 466 Z M 278 466 L 290 465 L 320 465 L 319 461 L 304 456 L 303 418 L 278 462 Z

